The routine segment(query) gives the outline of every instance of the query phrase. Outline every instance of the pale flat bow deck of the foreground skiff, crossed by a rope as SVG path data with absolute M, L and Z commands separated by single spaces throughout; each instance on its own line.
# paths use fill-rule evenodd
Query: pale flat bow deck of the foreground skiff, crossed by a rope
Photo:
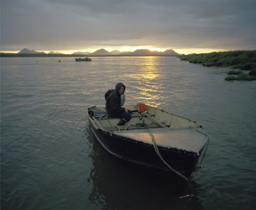
M 194 128 L 168 129 L 152 128 L 152 134 L 158 146 L 177 148 L 192 151 L 199 154 L 199 151 L 207 143 L 207 135 L 198 132 Z M 128 137 L 137 141 L 153 144 L 149 129 L 140 130 L 120 130 L 114 132 L 122 137 Z

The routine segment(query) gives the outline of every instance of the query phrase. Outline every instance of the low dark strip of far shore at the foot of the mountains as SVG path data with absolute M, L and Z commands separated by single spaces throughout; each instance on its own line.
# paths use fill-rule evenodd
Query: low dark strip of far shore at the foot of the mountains
M 16 54 L 16 53 L 0 53 L 0 57 L 139 57 L 139 56 L 155 56 L 155 57 L 178 57 L 178 55 L 73 55 L 73 54 Z

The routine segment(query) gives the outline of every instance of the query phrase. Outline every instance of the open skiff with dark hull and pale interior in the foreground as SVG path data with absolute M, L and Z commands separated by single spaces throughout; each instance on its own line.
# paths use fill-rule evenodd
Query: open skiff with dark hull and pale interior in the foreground
M 162 109 L 126 106 L 132 112 L 129 123 L 106 118 L 104 107 L 88 108 L 93 133 L 110 154 L 154 170 L 170 170 L 189 180 L 199 170 L 209 142 L 196 122 Z

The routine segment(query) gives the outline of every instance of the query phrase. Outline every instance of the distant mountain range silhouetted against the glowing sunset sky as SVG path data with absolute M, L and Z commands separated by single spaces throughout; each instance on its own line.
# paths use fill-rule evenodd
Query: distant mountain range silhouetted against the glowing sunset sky
M 29 50 L 27 48 L 22 49 L 21 51 L 18 52 L 18 54 L 46 54 L 45 52 L 38 52 L 35 50 Z M 50 51 L 48 54 L 62 54 L 60 52 L 53 52 Z M 130 51 L 125 51 L 121 52 L 119 50 L 113 50 L 111 52 L 105 50 L 105 49 L 99 49 L 96 50 L 95 52 L 74 52 L 72 55 L 87 55 L 87 56 L 113 56 L 113 55 L 124 55 L 124 56 L 178 56 L 177 52 L 174 50 L 166 50 L 163 52 L 158 52 L 158 51 L 151 51 L 147 49 L 140 49 L 140 50 L 135 50 L 134 52 Z

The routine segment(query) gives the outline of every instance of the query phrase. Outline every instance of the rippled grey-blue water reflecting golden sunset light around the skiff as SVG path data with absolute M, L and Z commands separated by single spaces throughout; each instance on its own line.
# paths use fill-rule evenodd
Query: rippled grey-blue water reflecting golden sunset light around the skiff
M 256 82 L 176 57 L 58 60 L 1 59 L 2 209 L 254 209 Z M 86 108 L 104 106 L 117 82 L 127 104 L 181 114 L 211 135 L 182 191 L 112 158 L 92 135 Z

